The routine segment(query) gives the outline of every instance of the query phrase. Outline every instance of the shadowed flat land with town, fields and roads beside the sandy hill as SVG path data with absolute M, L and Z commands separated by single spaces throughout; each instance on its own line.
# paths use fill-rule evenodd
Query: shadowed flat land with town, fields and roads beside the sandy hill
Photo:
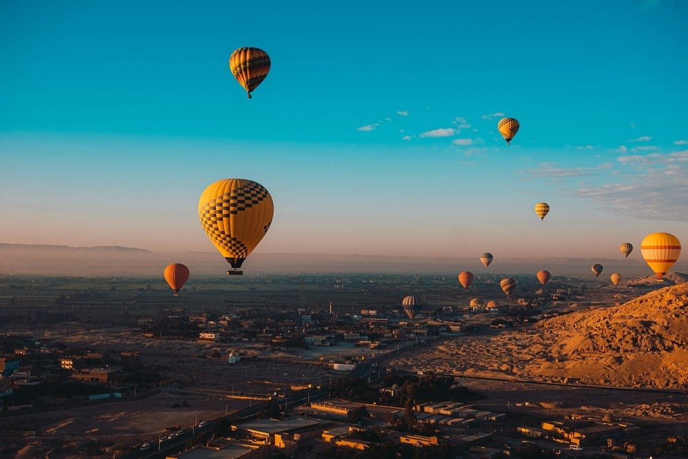
M 582 386 L 561 381 L 555 397 L 583 397 L 566 409 L 523 395 L 504 400 L 509 387 L 555 390 L 535 381 L 395 364 L 443 341 L 529 328 L 642 292 L 566 277 L 540 286 L 516 276 L 507 298 L 499 277 L 477 276 L 469 290 L 440 276 L 207 280 L 173 297 L 157 279 L 3 275 L 1 451 L 124 458 L 686 453 L 685 423 L 581 409 L 585 399 L 603 398 L 603 387 L 581 394 Z M 424 303 L 413 319 L 400 306 L 410 294 Z

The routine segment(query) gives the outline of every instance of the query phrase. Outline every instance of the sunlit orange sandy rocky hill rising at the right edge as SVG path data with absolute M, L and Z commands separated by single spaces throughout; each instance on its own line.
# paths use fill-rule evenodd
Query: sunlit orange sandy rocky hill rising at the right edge
M 390 365 L 619 387 L 688 387 L 688 283 L 534 328 L 462 337 Z

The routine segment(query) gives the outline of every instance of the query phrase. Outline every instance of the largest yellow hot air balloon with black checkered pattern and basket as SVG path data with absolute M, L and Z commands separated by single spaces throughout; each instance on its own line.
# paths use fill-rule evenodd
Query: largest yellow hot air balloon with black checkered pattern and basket
M 215 248 L 232 265 L 228 275 L 244 274 L 239 268 L 270 228 L 274 211 L 268 190 L 245 178 L 218 180 L 203 191 L 198 216 Z

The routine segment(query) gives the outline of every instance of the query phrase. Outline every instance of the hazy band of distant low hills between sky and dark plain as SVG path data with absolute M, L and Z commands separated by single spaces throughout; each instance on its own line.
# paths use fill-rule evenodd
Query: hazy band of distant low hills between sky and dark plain
M 637 253 L 625 259 L 618 257 L 502 257 L 495 253 L 489 268 L 481 263 L 480 253 L 474 257 L 411 257 L 407 255 L 265 253 L 253 254 L 244 264 L 246 277 L 272 274 L 380 274 L 380 275 L 446 275 L 453 277 L 462 270 L 475 275 L 526 275 L 537 270 L 550 270 L 553 276 L 590 277 L 590 266 L 605 267 L 600 276 L 607 281 L 613 272 L 625 279 L 652 274 Z M 407 261 L 407 262 L 404 262 Z M 141 248 L 69 248 L 54 246 L 12 247 L 0 243 L 0 273 L 26 275 L 134 276 L 162 277 L 169 263 L 183 263 L 191 269 L 191 277 L 225 277 L 228 264 L 211 250 L 202 252 L 151 252 Z M 688 264 L 678 261 L 673 271 L 688 271 Z

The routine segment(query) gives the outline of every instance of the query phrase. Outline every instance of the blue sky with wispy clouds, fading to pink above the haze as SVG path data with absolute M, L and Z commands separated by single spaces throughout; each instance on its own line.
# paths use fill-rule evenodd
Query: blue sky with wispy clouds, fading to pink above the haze
M 688 3 L 254 3 L 1 3 L 0 241 L 212 250 L 224 177 L 272 193 L 266 252 L 688 239 Z M 272 61 L 251 100 L 245 45 Z

